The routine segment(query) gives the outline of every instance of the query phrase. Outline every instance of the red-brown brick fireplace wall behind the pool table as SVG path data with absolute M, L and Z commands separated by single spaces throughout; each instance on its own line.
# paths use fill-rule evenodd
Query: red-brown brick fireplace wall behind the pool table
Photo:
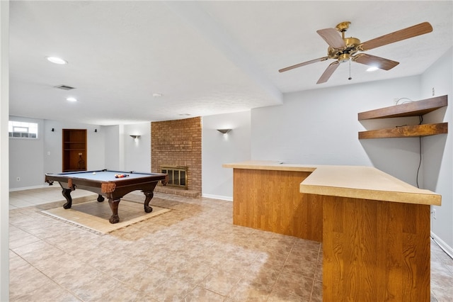
M 184 167 L 185 187 L 162 186 L 154 191 L 187 197 L 201 196 L 201 118 L 151 122 L 151 172 Z M 173 172 L 172 172 L 173 173 Z

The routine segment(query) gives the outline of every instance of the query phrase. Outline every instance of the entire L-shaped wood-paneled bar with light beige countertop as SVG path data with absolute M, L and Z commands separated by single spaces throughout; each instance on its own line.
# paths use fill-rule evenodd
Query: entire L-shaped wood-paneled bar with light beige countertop
M 234 224 L 323 243 L 323 301 L 430 301 L 430 205 L 440 206 L 439 194 L 374 167 L 223 167 L 234 171 Z

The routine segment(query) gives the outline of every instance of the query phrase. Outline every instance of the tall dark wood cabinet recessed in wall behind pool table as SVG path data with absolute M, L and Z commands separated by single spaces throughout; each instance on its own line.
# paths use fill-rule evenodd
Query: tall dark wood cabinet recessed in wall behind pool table
M 63 129 L 63 172 L 86 171 L 86 129 Z

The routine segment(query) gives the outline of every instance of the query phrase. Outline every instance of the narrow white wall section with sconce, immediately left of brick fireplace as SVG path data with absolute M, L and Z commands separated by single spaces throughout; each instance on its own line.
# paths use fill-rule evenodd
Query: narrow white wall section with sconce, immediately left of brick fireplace
M 151 172 L 151 122 L 124 126 L 125 171 Z M 137 142 L 130 135 L 140 135 Z

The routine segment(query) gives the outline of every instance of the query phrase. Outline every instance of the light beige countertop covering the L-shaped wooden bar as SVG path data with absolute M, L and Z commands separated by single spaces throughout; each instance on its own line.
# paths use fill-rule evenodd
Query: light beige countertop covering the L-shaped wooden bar
M 362 198 L 399 203 L 440 206 L 442 196 L 418 189 L 374 167 L 282 164 L 277 161 L 248 161 L 223 164 L 234 169 L 311 172 L 300 184 L 305 194 Z

